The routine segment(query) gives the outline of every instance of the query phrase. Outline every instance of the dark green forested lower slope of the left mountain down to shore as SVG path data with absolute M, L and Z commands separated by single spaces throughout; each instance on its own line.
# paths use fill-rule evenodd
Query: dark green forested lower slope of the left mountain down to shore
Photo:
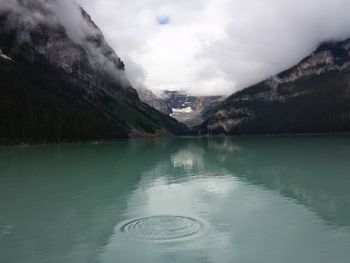
M 18 65 L 0 59 L 2 142 L 61 142 L 127 138 L 132 128 L 153 134 L 185 132 L 177 121 L 148 105 L 138 107 L 100 90 L 65 80 L 49 65 Z

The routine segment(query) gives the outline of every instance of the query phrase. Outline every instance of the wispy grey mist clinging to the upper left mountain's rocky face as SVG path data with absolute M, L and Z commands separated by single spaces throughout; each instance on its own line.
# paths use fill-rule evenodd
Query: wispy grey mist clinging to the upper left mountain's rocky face
M 105 42 L 101 31 L 90 21 L 88 14 L 84 13 L 75 1 L 0 0 L 1 11 L 10 14 L 7 26 L 20 28 L 17 41 L 31 42 L 30 32 L 39 25 L 52 27 L 53 30 L 63 27 L 69 39 L 87 52 L 90 63 L 96 70 L 103 69 L 105 73 L 115 77 L 119 83 L 130 85 L 125 73 L 121 70 L 119 58 Z M 57 42 L 59 41 L 55 39 L 53 43 L 46 43 L 46 46 L 37 48 L 41 50 L 40 52 L 56 54 L 57 57 L 52 59 L 62 60 L 61 64 L 72 65 L 76 59 L 80 59 L 77 54 L 80 52 L 79 49 L 68 45 L 64 50 L 65 47 L 59 46 Z M 64 52 L 67 54 L 63 56 Z

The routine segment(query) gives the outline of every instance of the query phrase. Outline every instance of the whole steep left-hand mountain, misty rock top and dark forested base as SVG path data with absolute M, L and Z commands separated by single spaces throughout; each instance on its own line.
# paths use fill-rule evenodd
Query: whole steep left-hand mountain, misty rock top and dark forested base
M 102 32 L 68 2 L 0 7 L 0 141 L 185 133 L 184 125 L 140 101 Z

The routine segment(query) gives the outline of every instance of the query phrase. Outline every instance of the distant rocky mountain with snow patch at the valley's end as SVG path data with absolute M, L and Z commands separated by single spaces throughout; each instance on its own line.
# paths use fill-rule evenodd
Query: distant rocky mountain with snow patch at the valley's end
M 194 96 L 183 91 L 166 90 L 159 97 L 147 89 L 139 90 L 140 99 L 188 127 L 201 124 L 224 97 Z

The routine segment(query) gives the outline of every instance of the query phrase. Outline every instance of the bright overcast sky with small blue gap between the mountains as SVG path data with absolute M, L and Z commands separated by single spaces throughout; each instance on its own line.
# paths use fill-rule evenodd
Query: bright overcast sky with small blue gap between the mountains
M 155 92 L 231 94 L 350 37 L 349 0 L 77 1 Z

